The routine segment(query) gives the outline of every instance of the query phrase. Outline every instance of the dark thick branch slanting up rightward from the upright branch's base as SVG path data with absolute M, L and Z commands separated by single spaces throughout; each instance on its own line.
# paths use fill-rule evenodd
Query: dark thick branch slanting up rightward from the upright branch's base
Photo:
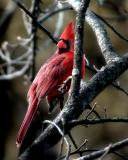
M 119 75 L 127 69 L 128 55 L 116 59 L 112 63 L 102 68 L 96 75 L 92 77 L 92 79 L 88 81 L 87 84 L 83 84 L 83 90 L 86 91 L 86 94 L 84 91 L 81 91 L 81 96 L 84 103 L 83 106 L 85 106 L 88 101 L 90 102 L 89 99 L 94 99 L 107 85 L 109 85 L 113 80 L 116 80 Z

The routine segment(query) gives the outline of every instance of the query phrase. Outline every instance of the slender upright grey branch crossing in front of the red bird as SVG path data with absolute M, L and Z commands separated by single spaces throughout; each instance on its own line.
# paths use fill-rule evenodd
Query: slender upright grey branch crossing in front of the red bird
M 74 50 L 74 64 L 72 71 L 71 91 L 68 97 L 68 103 L 75 105 L 79 99 L 79 89 L 81 81 L 81 67 L 83 59 L 83 31 L 84 31 L 84 17 L 90 0 L 82 0 L 80 8 L 76 16 L 76 34 L 75 34 L 75 50 Z

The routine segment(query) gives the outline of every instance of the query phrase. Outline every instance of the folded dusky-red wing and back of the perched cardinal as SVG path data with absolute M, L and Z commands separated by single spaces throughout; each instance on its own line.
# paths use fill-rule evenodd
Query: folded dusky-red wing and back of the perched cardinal
M 44 98 L 58 84 L 62 83 L 64 77 L 68 76 L 67 73 L 72 70 L 72 58 L 62 54 L 41 67 L 28 92 L 30 101 L 33 96 L 38 99 Z

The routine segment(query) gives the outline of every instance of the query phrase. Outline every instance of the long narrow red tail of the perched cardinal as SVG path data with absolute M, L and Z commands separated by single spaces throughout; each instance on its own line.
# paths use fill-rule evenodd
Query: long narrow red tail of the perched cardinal
M 16 139 L 16 144 L 17 147 L 20 147 L 29 127 L 30 124 L 33 120 L 33 117 L 37 111 L 38 108 L 38 104 L 39 104 L 39 100 L 37 98 L 34 98 L 31 102 L 29 102 L 29 107 L 27 110 L 27 113 L 25 115 L 25 118 L 21 124 L 21 127 L 19 129 L 19 132 L 17 134 L 17 139 Z

